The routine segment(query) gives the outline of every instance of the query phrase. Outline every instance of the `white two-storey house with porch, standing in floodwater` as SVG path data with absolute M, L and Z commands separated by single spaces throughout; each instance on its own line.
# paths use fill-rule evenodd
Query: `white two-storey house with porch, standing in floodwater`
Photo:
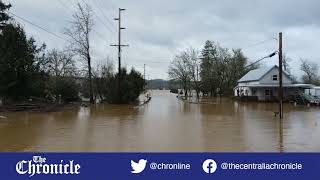
M 303 94 L 306 89 L 313 88 L 310 84 L 294 84 L 290 76 L 283 71 L 283 96 L 284 100 Z M 234 95 L 247 97 L 258 101 L 278 100 L 279 89 L 279 67 L 263 67 L 252 70 L 238 80 L 234 88 Z

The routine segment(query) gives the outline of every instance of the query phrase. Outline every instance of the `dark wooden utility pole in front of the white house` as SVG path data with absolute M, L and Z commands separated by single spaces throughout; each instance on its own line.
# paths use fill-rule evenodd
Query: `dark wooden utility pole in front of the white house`
M 282 32 L 279 33 L 279 117 L 283 118 L 283 86 L 282 86 Z

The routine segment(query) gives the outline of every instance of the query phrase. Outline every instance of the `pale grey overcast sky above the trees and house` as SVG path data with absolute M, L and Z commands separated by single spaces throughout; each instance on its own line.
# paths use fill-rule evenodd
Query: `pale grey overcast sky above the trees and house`
M 318 0 L 5 0 L 11 12 L 63 38 L 77 2 L 93 9 L 91 35 L 93 64 L 107 57 L 117 65 L 118 8 L 122 13 L 122 63 L 143 73 L 147 79 L 168 79 L 173 57 L 189 47 L 201 50 L 206 40 L 225 48 L 241 48 L 253 62 L 278 49 L 283 32 L 283 51 L 290 57 L 291 72 L 298 78 L 301 58 L 320 64 L 320 1 Z M 20 19 L 28 36 L 47 49 L 63 49 L 68 42 Z M 277 56 L 263 65 L 278 63 Z

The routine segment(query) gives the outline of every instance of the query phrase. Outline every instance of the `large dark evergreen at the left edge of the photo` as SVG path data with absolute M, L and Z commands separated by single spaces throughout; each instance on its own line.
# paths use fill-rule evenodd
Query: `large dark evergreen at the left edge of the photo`
M 42 96 L 45 74 L 40 71 L 38 48 L 33 38 L 27 39 L 20 25 L 8 24 L 0 36 L 0 96 L 24 100 Z

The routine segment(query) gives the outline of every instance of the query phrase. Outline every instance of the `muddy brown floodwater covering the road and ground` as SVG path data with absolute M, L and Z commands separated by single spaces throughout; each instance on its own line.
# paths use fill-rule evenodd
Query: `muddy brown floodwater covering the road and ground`
M 0 151 L 320 152 L 320 107 L 231 99 L 190 104 L 153 91 L 149 104 L 0 113 Z

